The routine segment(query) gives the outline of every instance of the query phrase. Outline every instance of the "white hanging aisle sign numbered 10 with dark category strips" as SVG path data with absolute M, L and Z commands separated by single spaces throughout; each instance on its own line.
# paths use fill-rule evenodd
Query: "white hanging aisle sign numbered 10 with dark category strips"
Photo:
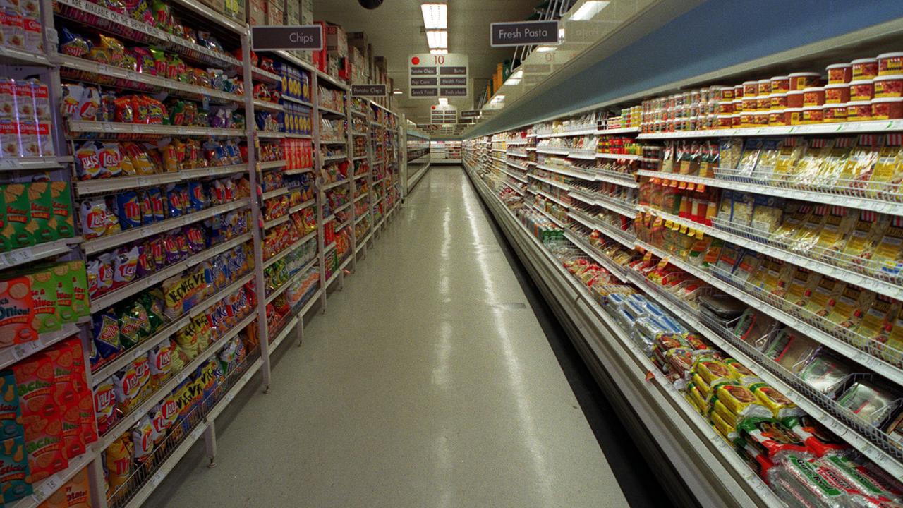
M 411 55 L 408 59 L 410 97 L 415 99 L 469 97 L 469 64 L 468 56 L 461 53 Z

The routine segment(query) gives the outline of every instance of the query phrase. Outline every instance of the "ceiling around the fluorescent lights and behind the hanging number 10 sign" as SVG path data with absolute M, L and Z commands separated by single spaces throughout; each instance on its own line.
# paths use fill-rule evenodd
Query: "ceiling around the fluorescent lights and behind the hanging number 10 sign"
M 533 13 L 541 0 L 448 0 L 449 52 L 464 53 L 470 58 L 470 97 L 449 99 L 459 110 L 473 108 L 496 65 L 510 60 L 514 48 L 489 47 L 489 24 L 521 21 Z M 414 122 L 429 122 L 430 107 L 435 99 L 409 99 L 407 95 L 407 61 L 414 53 L 429 52 L 421 0 L 385 0 L 372 11 L 361 7 L 358 0 L 314 0 L 313 17 L 340 24 L 346 32 L 366 32 L 377 56 L 385 56 L 389 78 L 405 93 L 396 96 L 401 113 Z

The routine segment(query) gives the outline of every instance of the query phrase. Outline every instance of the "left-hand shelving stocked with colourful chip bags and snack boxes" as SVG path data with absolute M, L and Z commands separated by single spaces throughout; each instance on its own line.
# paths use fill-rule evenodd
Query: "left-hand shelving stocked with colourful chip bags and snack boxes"
M 371 161 L 349 89 L 206 7 L 6 14 L 34 23 L 0 50 L 0 503 L 139 506 L 325 308 L 373 230 Z

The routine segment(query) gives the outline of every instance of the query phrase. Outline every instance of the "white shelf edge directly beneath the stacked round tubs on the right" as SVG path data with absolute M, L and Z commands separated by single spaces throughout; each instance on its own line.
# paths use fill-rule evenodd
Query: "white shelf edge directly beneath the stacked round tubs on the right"
M 856 134 L 861 132 L 898 132 L 903 120 L 869 120 L 784 127 L 744 127 L 711 130 L 685 130 L 640 134 L 637 139 L 680 139 L 686 137 L 788 136 L 807 134 Z

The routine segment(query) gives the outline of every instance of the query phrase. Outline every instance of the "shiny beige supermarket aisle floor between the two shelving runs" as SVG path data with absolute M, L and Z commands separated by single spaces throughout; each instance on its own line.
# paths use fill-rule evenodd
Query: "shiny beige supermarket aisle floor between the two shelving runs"
M 433 168 L 271 393 L 147 506 L 626 506 L 461 168 Z

